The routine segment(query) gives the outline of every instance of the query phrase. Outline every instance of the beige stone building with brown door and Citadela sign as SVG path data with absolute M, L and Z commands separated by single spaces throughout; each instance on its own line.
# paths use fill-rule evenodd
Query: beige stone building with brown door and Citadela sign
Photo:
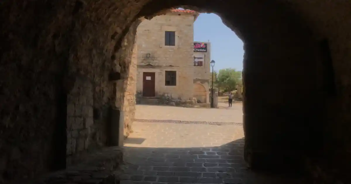
M 210 43 L 193 42 L 199 13 L 172 9 L 144 20 L 137 29 L 137 91 L 208 102 Z

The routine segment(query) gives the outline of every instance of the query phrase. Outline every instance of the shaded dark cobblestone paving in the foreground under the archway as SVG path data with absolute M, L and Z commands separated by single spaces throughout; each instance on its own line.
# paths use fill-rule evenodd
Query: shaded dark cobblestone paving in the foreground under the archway
M 129 139 L 129 138 L 128 138 Z M 303 184 L 291 172 L 252 172 L 243 157 L 244 138 L 215 147 L 137 147 L 141 139 L 126 140 L 121 184 L 225 183 L 225 184 Z M 284 170 L 284 168 L 281 168 Z

